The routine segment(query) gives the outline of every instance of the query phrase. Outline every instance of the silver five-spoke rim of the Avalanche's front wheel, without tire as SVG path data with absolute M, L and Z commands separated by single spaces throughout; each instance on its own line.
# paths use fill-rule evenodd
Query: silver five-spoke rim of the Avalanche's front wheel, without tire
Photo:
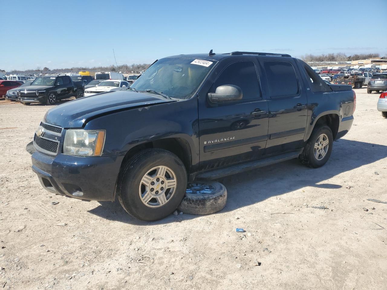
M 142 203 L 151 208 L 165 205 L 175 194 L 177 180 L 175 172 L 166 166 L 150 169 L 141 179 L 139 194 Z

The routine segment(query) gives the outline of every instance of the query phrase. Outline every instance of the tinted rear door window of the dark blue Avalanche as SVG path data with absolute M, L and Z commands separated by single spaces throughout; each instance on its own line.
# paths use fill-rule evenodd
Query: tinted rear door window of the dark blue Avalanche
M 299 84 L 293 65 L 286 61 L 264 62 L 271 98 L 298 95 Z

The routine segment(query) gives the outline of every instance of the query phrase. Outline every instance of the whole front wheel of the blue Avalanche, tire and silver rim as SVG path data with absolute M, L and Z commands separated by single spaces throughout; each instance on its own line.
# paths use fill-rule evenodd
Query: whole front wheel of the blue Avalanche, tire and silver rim
M 117 195 L 130 215 L 154 221 L 170 215 L 187 189 L 183 162 L 163 149 L 144 150 L 129 159 L 118 176 Z

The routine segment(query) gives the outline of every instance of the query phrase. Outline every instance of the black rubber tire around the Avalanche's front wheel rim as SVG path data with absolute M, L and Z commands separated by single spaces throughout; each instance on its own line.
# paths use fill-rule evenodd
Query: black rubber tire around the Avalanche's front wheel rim
M 177 185 L 173 195 L 164 205 L 152 208 L 145 205 L 140 198 L 141 180 L 157 166 L 169 167 L 175 174 Z M 147 149 L 129 159 L 123 165 L 117 182 L 117 195 L 122 207 L 133 217 L 144 221 L 159 220 L 170 215 L 182 201 L 186 189 L 187 172 L 183 162 L 175 154 L 163 149 Z M 164 196 L 168 196 L 167 190 L 165 189 Z M 152 200 L 159 201 L 151 198 L 148 202 Z

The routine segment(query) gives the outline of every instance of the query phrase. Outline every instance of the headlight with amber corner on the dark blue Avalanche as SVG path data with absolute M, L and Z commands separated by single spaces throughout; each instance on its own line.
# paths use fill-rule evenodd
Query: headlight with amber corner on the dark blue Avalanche
M 105 130 L 67 130 L 63 153 L 76 156 L 101 156 Z

